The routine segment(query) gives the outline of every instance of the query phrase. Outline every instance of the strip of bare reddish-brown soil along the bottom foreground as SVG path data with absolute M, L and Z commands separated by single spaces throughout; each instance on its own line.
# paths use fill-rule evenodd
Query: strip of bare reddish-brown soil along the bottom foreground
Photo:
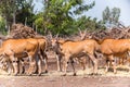
M 130 87 L 130 77 L 1 76 L 0 87 Z

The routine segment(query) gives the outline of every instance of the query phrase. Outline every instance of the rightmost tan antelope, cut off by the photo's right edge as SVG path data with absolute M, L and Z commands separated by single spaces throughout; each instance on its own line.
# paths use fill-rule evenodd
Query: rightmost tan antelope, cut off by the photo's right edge
M 101 52 L 106 57 L 106 72 L 108 71 L 109 63 L 112 63 L 114 73 L 116 71 L 116 61 L 114 57 L 123 59 L 130 51 L 130 39 L 104 39 L 101 42 Z

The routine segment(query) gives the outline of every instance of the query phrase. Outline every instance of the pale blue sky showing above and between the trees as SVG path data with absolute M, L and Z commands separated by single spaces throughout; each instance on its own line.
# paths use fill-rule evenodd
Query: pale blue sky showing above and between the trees
M 109 9 L 119 8 L 121 13 L 119 21 L 126 25 L 130 25 L 130 0 L 84 0 L 87 3 L 95 1 L 95 5 L 90 9 L 84 14 L 87 16 L 98 17 L 98 20 L 102 20 L 102 12 L 105 10 L 106 7 Z M 36 8 L 35 10 L 40 11 L 42 9 L 42 4 L 39 2 L 35 2 Z

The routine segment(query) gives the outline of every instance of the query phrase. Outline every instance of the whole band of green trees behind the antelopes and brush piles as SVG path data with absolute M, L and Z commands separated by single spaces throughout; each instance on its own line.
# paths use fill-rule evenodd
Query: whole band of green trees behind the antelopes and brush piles
M 39 1 L 39 0 L 37 0 Z M 83 12 L 96 3 L 86 3 L 84 0 L 40 0 L 43 9 L 34 12 L 34 0 L 0 0 L 0 32 L 6 33 L 15 23 L 32 27 L 39 34 L 72 35 L 78 29 L 88 32 L 106 29 L 107 26 L 118 26 L 120 9 L 108 7 L 103 11 L 103 20 L 91 18 Z M 78 16 L 78 17 L 76 17 Z

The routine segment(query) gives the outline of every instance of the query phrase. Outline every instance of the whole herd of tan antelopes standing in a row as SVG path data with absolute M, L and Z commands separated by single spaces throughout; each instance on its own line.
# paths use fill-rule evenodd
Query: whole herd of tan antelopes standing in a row
M 57 71 L 62 71 L 64 76 L 67 74 L 68 62 L 70 61 L 74 75 L 76 70 L 74 62 L 76 59 L 81 63 L 86 70 L 86 59 L 92 61 L 93 72 L 98 74 L 99 60 L 98 53 L 102 53 L 105 59 L 105 72 L 108 72 L 109 66 L 113 66 L 114 73 L 117 73 L 116 58 L 129 61 L 130 39 L 86 39 L 84 34 L 81 34 L 81 40 L 65 40 L 58 37 L 51 37 L 50 42 L 53 51 L 56 54 Z M 37 73 L 42 74 L 42 62 L 46 65 L 46 73 L 48 73 L 48 54 L 49 39 L 44 37 L 26 38 L 26 39 L 6 39 L 2 40 L 0 47 L 0 69 L 11 70 L 9 74 L 17 75 L 26 73 L 32 75 Z M 83 60 L 82 60 L 83 58 Z M 25 71 L 25 60 L 28 61 L 28 70 Z M 20 72 L 20 64 L 22 66 Z

